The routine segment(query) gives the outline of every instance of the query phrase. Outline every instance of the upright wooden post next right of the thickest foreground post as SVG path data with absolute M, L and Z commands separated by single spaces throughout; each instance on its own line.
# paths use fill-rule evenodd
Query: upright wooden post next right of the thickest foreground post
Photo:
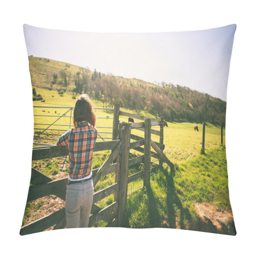
M 145 127 L 144 127 L 144 179 L 143 186 L 150 186 L 150 149 L 151 149 L 151 119 L 145 118 Z

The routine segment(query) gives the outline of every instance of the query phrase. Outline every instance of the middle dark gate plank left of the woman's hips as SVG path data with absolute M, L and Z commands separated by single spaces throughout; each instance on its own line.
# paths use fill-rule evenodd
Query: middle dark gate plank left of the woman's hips
M 55 195 L 65 200 L 67 184 L 68 178 L 63 178 L 38 186 L 31 186 L 28 189 L 27 202 L 49 195 Z

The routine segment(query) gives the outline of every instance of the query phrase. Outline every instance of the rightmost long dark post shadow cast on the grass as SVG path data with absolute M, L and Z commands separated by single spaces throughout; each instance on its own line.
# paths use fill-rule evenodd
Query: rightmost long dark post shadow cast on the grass
M 168 172 L 168 169 L 163 170 L 166 181 L 167 181 L 167 195 L 166 195 L 166 202 L 167 202 L 167 213 L 168 213 L 168 222 L 170 228 L 177 228 L 176 226 L 176 217 L 180 217 L 180 228 L 187 229 L 184 224 L 184 219 L 186 218 L 189 222 L 192 220 L 191 214 L 188 208 L 184 208 L 180 198 L 177 196 L 173 181 L 173 174 L 175 173 L 175 168 L 171 169 L 171 172 Z M 178 213 L 175 211 L 175 205 L 180 211 L 180 216 L 177 216 Z

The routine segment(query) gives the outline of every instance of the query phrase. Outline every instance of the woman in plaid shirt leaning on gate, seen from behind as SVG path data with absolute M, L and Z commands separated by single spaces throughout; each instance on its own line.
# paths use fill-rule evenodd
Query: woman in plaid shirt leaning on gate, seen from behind
M 87 228 L 92 208 L 92 153 L 98 131 L 91 100 L 81 94 L 74 108 L 73 129 L 65 132 L 57 145 L 67 145 L 69 176 L 66 192 L 67 228 Z

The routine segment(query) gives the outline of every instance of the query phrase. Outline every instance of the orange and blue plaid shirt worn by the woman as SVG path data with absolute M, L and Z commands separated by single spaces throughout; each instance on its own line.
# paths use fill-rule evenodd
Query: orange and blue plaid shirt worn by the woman
M 97 136 L 97 129 L 82 121 L 76 128 L 65 132 L 57 141 L 57 145 L 68 146 L 69 176 L 72 180 L 91 176 L 92 153 Z

